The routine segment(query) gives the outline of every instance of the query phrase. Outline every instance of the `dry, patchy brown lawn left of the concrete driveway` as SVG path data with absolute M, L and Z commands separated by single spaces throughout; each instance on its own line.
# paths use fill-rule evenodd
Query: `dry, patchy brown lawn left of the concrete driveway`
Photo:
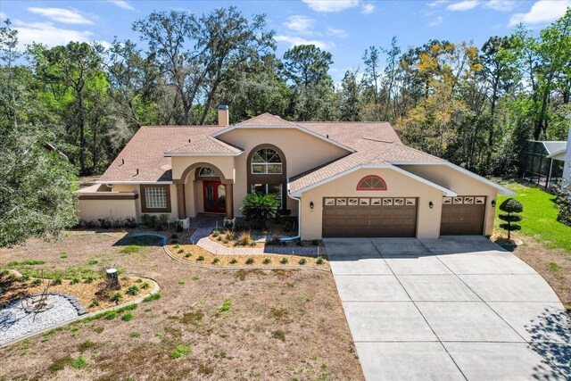
M 116 241 L 75 235 L 0 250 L 0 268 L 113 266 L 155 279 L 162 295 L 128 321 L 80 321 L 1 349 L 0 379 L 363 379 L 330 273 L 198 269 L 160 246 L 126 251 Z

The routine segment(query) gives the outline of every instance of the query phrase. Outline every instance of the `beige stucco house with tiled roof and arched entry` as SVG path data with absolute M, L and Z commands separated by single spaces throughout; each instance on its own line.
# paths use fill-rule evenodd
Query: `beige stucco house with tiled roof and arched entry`
M 509 189 L 403 145 L 385 122 L 292 122 L 264 113 L 236 125 L 142 127 L 95 186 L 79 218 L 240 216 L 244 196 L 275 195 L 299 236 L 492 234 Z

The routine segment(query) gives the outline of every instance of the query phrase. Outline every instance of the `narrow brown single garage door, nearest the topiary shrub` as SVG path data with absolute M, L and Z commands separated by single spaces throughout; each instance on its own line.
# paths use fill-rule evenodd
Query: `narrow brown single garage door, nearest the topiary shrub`
M 463 195 L 443 198 L 441 236 L 484 234 L 484 195 Z

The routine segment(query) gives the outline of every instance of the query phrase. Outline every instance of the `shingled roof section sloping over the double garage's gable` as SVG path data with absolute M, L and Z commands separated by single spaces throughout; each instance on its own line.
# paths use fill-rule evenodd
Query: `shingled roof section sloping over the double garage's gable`
M 387 164 L 389 162 L 444 162 L 436 156 L 420 152 L 399 143 L 361 139 L 356 144 L 356 153 L 344 156 L 334 162 L 328 162 L 313 170 L 300 173 L 289 179 L 289 190 L 297 192 L 319 181 L 339 175 L 346 170 L 366 164 Z

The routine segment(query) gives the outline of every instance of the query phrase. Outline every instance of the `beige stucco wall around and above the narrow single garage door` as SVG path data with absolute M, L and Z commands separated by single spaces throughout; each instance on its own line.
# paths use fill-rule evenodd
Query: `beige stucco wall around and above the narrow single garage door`
M 444 186 L 458 195 L 485 195 L 487 196 L 484 216 L 484 235 L 491 236 L 493 233 L 493 219 L 495 208 L 492 200 L 498 195 L 498 190 L 484 182 L 472 178 L 459 170 L 444 165 L 400 165 L 403 170 L 408 170 L 421 178 L 426 178 Z

